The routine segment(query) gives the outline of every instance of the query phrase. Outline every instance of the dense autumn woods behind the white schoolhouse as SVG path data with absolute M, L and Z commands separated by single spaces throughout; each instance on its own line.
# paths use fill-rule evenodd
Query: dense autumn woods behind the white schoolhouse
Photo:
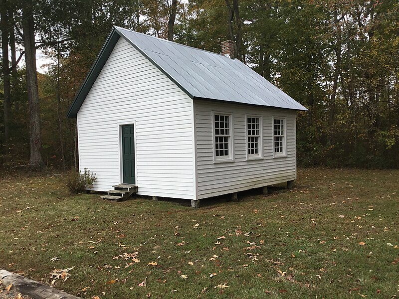
M 66 112 L 112 25 L 217 53 L 233 40 L 309 109 L 300 165 L 399 167 L 397 0 L 0 0 L 0 19 L 0 168 L 77 166 Z

